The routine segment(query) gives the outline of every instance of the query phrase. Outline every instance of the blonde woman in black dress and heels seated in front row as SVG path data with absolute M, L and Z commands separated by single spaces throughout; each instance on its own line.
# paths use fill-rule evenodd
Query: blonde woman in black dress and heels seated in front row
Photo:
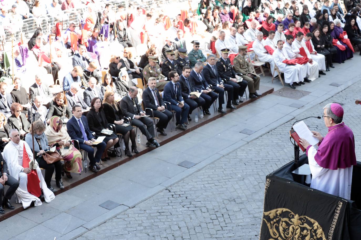
M 119 104 L 114 100 L 114 91 L 106 90 L 103 99 L 104 113 L 108 123 L 115 124 L 116 132 L 122 134 L 124 137 L 125 144 L 125 154 L 128 157 L 131 157 L 132 154 L 129 150 L 129 138 L 132 141 L 132 152 L 139 153 L 136 149 L 135 142 L 135 131 L 134 128 L 130 125 L 123 126 L 124 119 L 119 107 Z

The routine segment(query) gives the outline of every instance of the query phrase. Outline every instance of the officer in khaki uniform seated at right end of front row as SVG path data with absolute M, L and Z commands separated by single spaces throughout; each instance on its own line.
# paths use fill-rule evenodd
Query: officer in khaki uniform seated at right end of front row
M 235 72 L 242 73 L 243 80 L 248 82 L 248 90 L 250 98 L 257 98 L 262 96 L 258 94 L 257 90 L 260 90 L 260 76 L 258 76 L 249 63 L 248 59 L 245 58 L 247 54 L 247 46 L 238 47 L 238 55 L 233 59 L 233 66 Z

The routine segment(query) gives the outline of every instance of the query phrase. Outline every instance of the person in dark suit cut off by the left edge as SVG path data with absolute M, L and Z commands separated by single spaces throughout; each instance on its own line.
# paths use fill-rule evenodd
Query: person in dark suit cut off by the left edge
M 3 156 L 0 154 L 0 162 L 3 163 L 0 169 L 0 214 L 4 214 L 4 208 L 7 209 L 15 209 L 13 205 L 9 202 L 9 200 L 14 195 L 15 191 L 19 187 L 19 181 L 14 177 L 9 175 L 8 166 L 6 165 L 6 161 L 3 159 Z M 4 186 L 10 186 L 4 195 Z M 2 200 L 4 195 L 4 200 Z

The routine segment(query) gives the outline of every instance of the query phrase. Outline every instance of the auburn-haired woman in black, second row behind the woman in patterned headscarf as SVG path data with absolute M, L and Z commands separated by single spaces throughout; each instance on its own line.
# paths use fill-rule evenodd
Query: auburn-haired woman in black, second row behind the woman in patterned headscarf
M 62 92 L 59 92 L 49 105 L 49 112 L 46 116 L 47 123 L 50 122 L 52 116 L 60 117 L 63 124 L 66 124 L 68 120 L 73 117 L 73 113 L 71 113 L 71 110 L 68 107 L 65 94 Z

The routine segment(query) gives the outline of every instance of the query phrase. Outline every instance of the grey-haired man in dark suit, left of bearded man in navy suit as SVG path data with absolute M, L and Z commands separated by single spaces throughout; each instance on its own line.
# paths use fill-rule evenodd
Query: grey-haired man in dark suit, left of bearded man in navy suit
M 153 116 L 159 118 L 157 123 L 157 131 L 166 136 L 164 129 L 167 128 L 167 125 L 172 119 L 172 113 L 165 109 L 165 104 L 163 99 L 159 95 L 158 89 L 156 89 L 157 80 L 155 77 L 150 77 L 148 79 L 148 87 L 143 91 L 143 103 L 144 108 L 150 108 L 153 110 Z M 170 108 L 170 106 L 168 106 Z M 145 109 L 145 114 L 152 116 L 152 111 L 149 109 Z

